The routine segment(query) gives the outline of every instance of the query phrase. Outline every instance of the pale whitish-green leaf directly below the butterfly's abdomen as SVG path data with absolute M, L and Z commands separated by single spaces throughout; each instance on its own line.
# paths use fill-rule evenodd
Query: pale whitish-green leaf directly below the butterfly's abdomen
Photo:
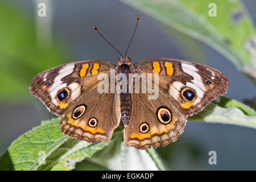
M 138 150 L 125 146 L 122 132 L 116 133 L 109 146 L 87 160 L 111 170 L 164 170 L 153 148 Z

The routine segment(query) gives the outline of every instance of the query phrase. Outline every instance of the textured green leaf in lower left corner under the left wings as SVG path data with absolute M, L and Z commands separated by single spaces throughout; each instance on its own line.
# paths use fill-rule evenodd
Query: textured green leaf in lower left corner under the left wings
M 64 135 L 59 118 L 16 139 L 0 158 L 0 170 L 70 170 L 109 142 L 88 143 Z

